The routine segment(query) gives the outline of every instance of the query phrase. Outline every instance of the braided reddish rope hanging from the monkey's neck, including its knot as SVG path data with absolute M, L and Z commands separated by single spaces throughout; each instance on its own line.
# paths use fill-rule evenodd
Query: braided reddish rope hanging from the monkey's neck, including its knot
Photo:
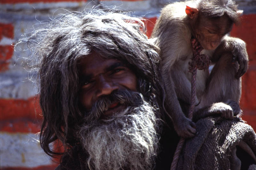
M 196 70 L 205 70 L 209 68 L 210 65 L 210 60 L 209 57 L 207 57 L 204 54 L 200 54 L 201 51 L 203 50 L 203 47 L 200 45 L 200 43 L 194 38 L 191 39 L 191 44 L 192 44 L 192 51 L 193 51 L 193 57 L 192 57 L 192 62 L 189 62 L 189 72 L 192 73 L 192 78 L 191 78 L 191 98 L 190 98 L 190 107 L 188 110 L 188 118 L 192 120 L 193 118 L 193 112 L 195 108 L 195 103 L 196 103 Z M 180 157 L 180 152 L 182 150 L 182 147 L 185 143 L 185 138 L 181 138 L 176 151 L 174 153 L 174 157 L 172 160 L 172 165 L 171 165 L 171 170 L 176 170 L 178 160 Z

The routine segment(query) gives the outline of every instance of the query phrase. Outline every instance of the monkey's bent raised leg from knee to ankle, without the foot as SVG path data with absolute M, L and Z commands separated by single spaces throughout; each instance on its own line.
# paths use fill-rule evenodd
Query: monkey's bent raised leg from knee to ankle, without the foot
M 204 106 L 227 100 L 239 104 L 242 80 L 235 78 L 239 64 L 232 60 L 233 56 L 230 53 L 224 53 L 213 67 L 202 98 Z

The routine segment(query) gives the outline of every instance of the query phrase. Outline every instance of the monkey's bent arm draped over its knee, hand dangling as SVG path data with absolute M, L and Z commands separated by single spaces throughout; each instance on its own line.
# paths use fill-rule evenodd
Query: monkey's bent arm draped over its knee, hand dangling
M 249 60 L 245 42 L 239 38 L 229 37 L 228 35 L 224 36 L 212 56 L 212 63 L 216 63 L 220 59 L 220 56 L 226 52 L 231 52 L 233 55 L 233 62 L 237 61 L 239 63 L 236 78 L 240 78 L 248 69 Z

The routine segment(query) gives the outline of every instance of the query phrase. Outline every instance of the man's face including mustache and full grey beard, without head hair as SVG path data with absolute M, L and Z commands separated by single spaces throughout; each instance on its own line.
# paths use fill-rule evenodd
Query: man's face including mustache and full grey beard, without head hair
M 151 169 L 159 140 L 156 110 L 137 92 L 135 74 L 121 61 L 97 53 L 81 59 L 79 71 L 85 112 L 76 137 L 88 154 L 86 165 Z

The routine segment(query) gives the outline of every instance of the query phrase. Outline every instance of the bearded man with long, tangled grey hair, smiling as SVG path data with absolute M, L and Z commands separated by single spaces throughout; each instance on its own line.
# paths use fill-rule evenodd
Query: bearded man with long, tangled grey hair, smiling
M 40 144 L 52 157 L 51 143 L 63 144 L 57 169 L 170 167 L 159 49 L 145 31 L 141 18 L 97 10 L 62 15 L 18 43 L 38 57 Z

